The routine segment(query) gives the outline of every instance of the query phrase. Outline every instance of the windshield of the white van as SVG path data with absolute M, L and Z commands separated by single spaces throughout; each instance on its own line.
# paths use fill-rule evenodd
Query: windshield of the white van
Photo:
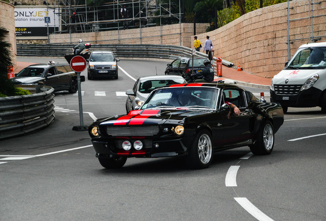
M 302 48 L 294 55 L 286 69 L 325 69 L 326 47 Z

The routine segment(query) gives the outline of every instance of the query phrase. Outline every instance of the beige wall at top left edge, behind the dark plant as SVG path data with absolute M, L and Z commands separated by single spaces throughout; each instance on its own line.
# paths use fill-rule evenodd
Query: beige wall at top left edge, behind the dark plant
M 0 25 L 7 29 L 8 35 L 5 40 L 11 45 L 12 63 L 14 67 L 16 65 L 16 34 L 15 34 L 15 18 L 14 18 L 14 6 L 0 1 Z

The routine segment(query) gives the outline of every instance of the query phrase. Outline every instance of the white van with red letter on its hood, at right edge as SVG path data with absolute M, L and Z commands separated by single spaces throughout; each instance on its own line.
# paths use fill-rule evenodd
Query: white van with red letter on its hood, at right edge
M 299 47 L 286 67 L 272 79 L 271 101 L 288 107 L 320 106 L 326 113 L 326 42 Z

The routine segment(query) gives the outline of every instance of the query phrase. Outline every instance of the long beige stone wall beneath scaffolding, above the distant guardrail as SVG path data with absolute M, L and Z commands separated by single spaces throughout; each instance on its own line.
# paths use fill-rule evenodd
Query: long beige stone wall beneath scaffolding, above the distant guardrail
M 196 24 L 197 33 L 205 33 L 209 24 Z M 193 24 L 174 24 L 140 29 L 126 29 L 104 32 L 51 34 L 50 43 L 76 43 L 78 39 L 97 44 L 151 44 L 193 46 Z

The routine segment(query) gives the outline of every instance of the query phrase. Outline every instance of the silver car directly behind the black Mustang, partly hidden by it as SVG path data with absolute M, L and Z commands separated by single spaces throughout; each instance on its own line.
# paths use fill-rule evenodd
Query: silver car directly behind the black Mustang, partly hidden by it
M 186 83 L 186 80 L 177 75 L 155 75 L 138 78 L 133 89 L 126 91 L 126 95 L 128 95 L 126 100 L 127 114 L 134 109 L 139 109 L 148 95 L 157 87 L 176 83 Z

